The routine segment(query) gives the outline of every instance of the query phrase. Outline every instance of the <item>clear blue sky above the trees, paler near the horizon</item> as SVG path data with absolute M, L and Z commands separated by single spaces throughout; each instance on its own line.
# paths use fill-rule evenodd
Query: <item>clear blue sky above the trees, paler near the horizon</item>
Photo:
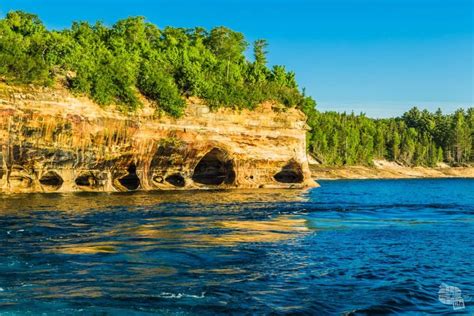
M 225 25 L 270 43 L 320 110 L 399 115 L 474 106 L 474 0 L 0 0 L 49 28 L 142 15 L 159 27 Z

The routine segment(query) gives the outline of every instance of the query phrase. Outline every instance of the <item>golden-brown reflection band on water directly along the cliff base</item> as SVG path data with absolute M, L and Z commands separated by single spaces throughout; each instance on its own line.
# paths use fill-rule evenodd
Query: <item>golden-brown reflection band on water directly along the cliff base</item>
M 288 189 L 228 191 L 153 191 L 130 193 L 0 194 L 0 215 L 28 210 L 97 211 L 120 206 L 129 210 L 147 208 L 157 203 L 226 204 L 229 208 L 245 202 L 305 201 L 305 191 Z

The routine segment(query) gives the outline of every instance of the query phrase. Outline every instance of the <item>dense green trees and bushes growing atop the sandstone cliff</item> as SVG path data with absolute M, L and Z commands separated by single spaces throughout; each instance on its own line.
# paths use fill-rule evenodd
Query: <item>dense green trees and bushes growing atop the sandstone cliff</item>
M 72 91 L 130 111 L 141 93 L 173 116 L 182 115 L 189 96 L 211 107 L 252 109 L 274 100 L 314 110 L 293 72 L 267 67 L 265 40 L 254 43 L 254 61 L 245 57 L 247 47 L 241 33 L 225 27 L 159 29 L 131 17 L 112 27 L 74 22 L 51 31 L 36 15 L 12 11 L 0 20 L 0 76 L 42 85 L 65 76 Z

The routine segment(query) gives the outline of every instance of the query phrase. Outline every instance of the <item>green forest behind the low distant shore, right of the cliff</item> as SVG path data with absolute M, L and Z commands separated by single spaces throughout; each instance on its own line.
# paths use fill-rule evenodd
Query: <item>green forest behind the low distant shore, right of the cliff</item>
M 474 161 L 474 108 L 443 114 L 414 107 L 399 118 L 316 113 L 309 152 L 326 165 L 371 165 L 374 159 L 408 166 Z

